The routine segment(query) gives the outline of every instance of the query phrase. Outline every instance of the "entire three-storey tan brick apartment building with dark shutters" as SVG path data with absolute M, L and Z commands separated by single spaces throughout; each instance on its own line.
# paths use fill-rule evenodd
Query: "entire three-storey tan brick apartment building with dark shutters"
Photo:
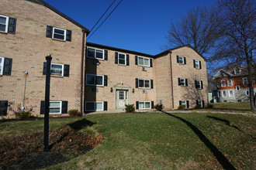
M 208 101 L 206 59 L 191 46 L 152 56 L 86 42 L 88 33 L 42 0 L 2 1 L 0 115 L 13 117 L 23 104 L 43 114 L 48 53 L 50 114 L 122 110 L 125 104 L 144 110 L 161 103 L 171 110 Z

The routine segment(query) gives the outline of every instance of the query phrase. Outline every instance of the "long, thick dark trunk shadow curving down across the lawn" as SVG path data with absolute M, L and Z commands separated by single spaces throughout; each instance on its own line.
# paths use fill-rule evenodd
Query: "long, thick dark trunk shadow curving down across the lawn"
M 164 114 L 168 114 L 171 117 L 175 117 L 178 120 L 182 121 L 183 123 L 187 124 L 189 128 L 194 131 L 194 133 L 199 137 L 199 139 L 206 145 L 207 148 L 209 148 L 210 151 L 212 151 L 215 158 L 220 162 L 220 165 L 223 166 L 225 169 L 236 169 L 234 166 L 227 160 L 227 158 L 221 153 L 221 151 L 216 148 L 215 145 L 211 141 L 209 141 L 208 138 L 204 134 L 202 134 L 202 131 L 199 130 L 199 128 L 196 128 L 194 124 L 190 123 L 189 121 L 186 121 L 182 117 L 175 116 L 174 114 L 169 114 L 167 112 L 164 112 Z

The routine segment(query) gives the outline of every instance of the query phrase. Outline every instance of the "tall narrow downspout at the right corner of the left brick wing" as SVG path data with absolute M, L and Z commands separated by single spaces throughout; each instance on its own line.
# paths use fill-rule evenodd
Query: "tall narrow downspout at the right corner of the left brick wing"
M 83 87 L 84 87 L 84 56 L 85 56 L 85 30 L 82 30 L 83 38 L 81 43 L 81 93 L 80 93 L 80 114 L 83 115 Z

